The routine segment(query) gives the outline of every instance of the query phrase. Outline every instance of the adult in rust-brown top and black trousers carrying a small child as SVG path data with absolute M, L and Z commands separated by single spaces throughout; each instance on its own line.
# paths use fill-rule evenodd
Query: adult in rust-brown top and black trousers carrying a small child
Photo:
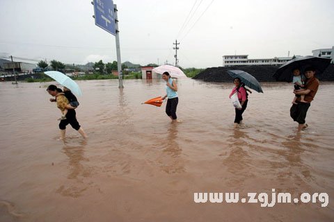
M 305 77 L 306 83 L 304 89 L 294 89 L 294 94 L 304 95 L 305 103 L 301 102 L 301 99 L 297 99 L 296 104 L 293 104 L 290 108 L 290 116 L 294 121 L 298 122 L 297 131 L 308 127 L 308 124 L 305 123 L 306 113 L 308 112 L 308 108 L 310 108 L 312 100 L 315 98 L 315 94 L 317 94 L 319 87 L 319 80 L 315 78 L 315 68 L 308 67 L 305 69 Z

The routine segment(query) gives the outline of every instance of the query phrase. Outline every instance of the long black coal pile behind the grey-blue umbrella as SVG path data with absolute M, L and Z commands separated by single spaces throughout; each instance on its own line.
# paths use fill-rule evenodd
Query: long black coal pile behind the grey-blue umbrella
M 205 82 L 228 83 L 232 82 L 232 77 L 228 74 L 228 70 L 242 70 L 254 76 L 259 82 L 276 82 L 273 74 L 278 66 L 272 65 L 249 65 L 234 67 L 212 67 L 201 71 L 193 79 L 204 80 Z M 334 65 L 331 64 L 319 77 L 321 81 L 334 81 Z

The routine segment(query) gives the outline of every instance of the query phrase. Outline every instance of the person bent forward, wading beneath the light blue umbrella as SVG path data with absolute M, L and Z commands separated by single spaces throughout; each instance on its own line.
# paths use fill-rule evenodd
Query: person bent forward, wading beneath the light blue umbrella
M 65 132 L 66 132 L 66 126 L 70 124 L 74 130 L 77 130 L 82 137 L 85 139 L 88 138 L 84 129 L 80 126 L 79 122 L 77 121 L 76 112 L 74 108 L 69 105 L 69 101 L 66 99 L 63 92 L 61 92 L 61 89 L 58 89 L 56 85 L 49 85 L 47 87 L 47 92 L 51 96 L 56 97 L 57 107 L 61 110 L 68 109 L 68 112 L 66 114 L 66 119 L 62 119 L 59 123 L 59 129 L 61 130 L 61 139 L 65 139 Z M 54 99 L 50 99 L 50 101 L 54 101 Z

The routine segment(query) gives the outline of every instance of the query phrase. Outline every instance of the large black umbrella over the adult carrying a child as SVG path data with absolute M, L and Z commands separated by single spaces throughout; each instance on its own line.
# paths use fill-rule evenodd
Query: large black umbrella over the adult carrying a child
M 273 74 L 273 77 L 278 81 L 285 81 L 290 83 L 294 78 L 294 74 L 292 74 L 294 69 L 300 69 L 303 73 L 307 67 L 314 67 L 316 69 L 315 74 L 319 77 L 330 63 L 331 59 L 329 58 L 314 56 L 294 58 L 293 60 L 289 60 L 289 62 L 285 62 L 285 64 L 279 67 L 275 74 Z

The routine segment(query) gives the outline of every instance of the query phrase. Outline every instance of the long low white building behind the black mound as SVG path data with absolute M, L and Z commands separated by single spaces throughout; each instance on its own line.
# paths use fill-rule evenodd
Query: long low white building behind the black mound
M 292 60 L 292 57 L 248 59 L 248 55 L 223 56 L 223 67 L 231 67 L 237 65 L 283 65 L 289 60 Z

